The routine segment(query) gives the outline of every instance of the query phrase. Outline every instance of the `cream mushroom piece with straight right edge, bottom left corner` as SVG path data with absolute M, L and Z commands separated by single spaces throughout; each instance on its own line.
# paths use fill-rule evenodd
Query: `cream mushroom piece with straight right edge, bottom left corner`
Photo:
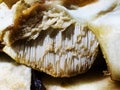
M 31 69 L 0 53 L 0 90 L 30 90 Z

